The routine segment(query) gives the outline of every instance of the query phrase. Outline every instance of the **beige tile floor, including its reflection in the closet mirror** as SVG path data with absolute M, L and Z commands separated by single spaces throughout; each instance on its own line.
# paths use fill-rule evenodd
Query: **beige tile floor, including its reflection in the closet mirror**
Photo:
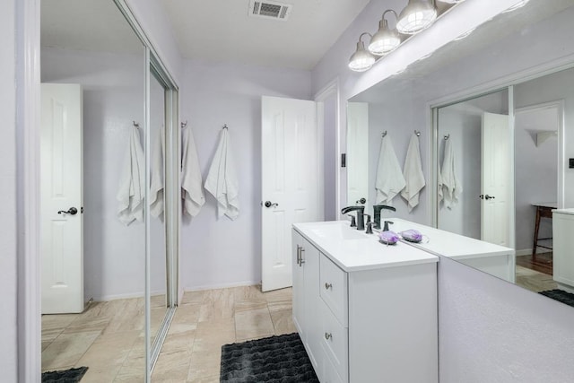
M 162 318 L 161 300 L 152 317 Z M 219 382 L 223 344 L 294 332 L 291 289 L 186 292 L 152 382 Z M 42 317 L 42 370 L 88 366 L 82 383 L 142 382 L 143 300 L 92 303 L 83 314 Z

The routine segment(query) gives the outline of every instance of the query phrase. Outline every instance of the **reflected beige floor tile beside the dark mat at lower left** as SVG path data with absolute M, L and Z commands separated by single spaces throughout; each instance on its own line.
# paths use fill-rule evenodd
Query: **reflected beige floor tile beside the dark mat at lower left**
M 59 335 L 42 352 L 42 370 L 74 366 L 99 335 L 99 331 Z

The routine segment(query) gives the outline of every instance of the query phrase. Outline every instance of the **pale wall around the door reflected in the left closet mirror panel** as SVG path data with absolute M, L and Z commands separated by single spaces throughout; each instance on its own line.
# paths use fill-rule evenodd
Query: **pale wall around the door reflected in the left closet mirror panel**
M 83 85 L 86 300 L 143 294 L 143 222 L 125 226 L 116 215 L 117 187 L 132 121 L 141 124 L 142 138 L 144 134 L 143 59 L 143 54 L 42 49 L 42 82 Z

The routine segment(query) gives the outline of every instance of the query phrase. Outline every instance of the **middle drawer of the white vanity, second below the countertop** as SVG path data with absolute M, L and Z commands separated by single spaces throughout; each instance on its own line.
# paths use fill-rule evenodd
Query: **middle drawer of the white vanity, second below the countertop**
M 321 336 L 326 359 L 340 377 L 349 376 L 349 332 L 341 326 L 326 304 L 321 304 Z M 346 380 L 346 379 L 344 379 Z

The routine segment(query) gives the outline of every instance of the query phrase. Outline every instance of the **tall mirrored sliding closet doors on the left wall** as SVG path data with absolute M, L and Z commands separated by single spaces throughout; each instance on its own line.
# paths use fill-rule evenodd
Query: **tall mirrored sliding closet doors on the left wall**
M 148 381 L 177 304 L 177 86 L 114 1 L 40 12 L 42 371 Z

